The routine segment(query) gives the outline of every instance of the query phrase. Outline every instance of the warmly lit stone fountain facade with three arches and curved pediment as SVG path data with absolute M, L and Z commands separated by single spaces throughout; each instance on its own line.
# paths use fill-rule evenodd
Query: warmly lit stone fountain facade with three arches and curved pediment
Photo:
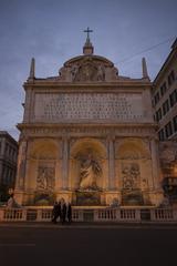
M 149 80 L 119 76 L 110 60 L 84 54 L 65 62 L 59 76 L 28 80 L 24 89 L 20 203 L 162 202 Z

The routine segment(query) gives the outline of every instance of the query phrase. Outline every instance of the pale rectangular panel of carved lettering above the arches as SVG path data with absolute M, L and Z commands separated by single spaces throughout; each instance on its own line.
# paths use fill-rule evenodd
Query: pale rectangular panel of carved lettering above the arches
M 143 117 L 139 93 L 37 93 L 35 121 L 108 120 Z

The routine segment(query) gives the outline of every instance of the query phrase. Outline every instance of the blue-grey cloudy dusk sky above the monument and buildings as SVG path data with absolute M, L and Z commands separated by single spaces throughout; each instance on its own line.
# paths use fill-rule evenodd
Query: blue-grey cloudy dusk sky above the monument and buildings
M 0 130 L 18 140 L 31 58 L 37 78 L 58 75 L 87 27 L 95 54 L 131 78 L 145 57 L 153 81 L 177 37 L 177 0 L 0 0 Z

